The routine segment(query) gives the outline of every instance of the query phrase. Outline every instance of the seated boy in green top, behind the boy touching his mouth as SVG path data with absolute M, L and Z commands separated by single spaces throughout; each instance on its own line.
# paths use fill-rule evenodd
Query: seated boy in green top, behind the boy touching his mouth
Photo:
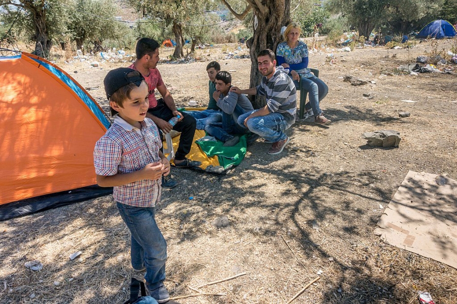
M 220 71 L 220 64 L 217 61 L 211 61 L 206 66 L 206 72 L 208 73 L 208 87 L 209 87 L 209 103 L 208 108 L 203 111 L 187 111 L 186 113 L 197 120 L 197 129 L 204 130 L 205 126 L 211 122 L 221 122 L 222 113 L 219 107 L 216 105 L 216 100 L 213 97 L 213 93 L 216 90 L 216 74 Z

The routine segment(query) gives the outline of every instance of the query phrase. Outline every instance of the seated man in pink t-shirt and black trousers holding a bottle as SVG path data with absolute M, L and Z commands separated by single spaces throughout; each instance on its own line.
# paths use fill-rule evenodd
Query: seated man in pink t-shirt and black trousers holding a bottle
M 141 38 L 136 47 L 137 60 L 129 66 L 130 69 L 140 72 L 148 84 L 149 109 L 146 117 L 154 121 L 161 133 L 169 133 L 172 129 L 181 132 L 178 150 L 174 159 L 174 164 L 177 168 L 200 166 L 202 164 L 200 161 L 186 158 L 186 155 L 190 152 L 197 122 L 195 118 L 186 113 L 178 112 L 176 109 L 175 100 L 168 91 L 156 67 L 159 61 L 159 47 L 160 45 L 157 41 L 150 38 Z M 162 96 L 158 100 L 154 94 L 156 89 Z M 174 126 L 171 125 L 168 121 L 178 115 L 178 122 Z M 177 182 L 170 176 L 162 177 L 162 187 L 173 188 L 176 185 Z

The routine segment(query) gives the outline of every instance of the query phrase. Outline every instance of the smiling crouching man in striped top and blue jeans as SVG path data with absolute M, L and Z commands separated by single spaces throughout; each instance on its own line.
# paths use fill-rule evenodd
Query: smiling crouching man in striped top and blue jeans
M 284 133 L 297 117 L 297 90 L 282 66 L 276 66 L 275 53 L 265 49 L 257 55 L 262 82 L 250 89 L 232 87 L 237 94 L 262 95 L 267 105 L 238 117 L 238 124 L 245 125 L 252 133 L 271 142 L 268 154 L 279 154 L 289 142 Z

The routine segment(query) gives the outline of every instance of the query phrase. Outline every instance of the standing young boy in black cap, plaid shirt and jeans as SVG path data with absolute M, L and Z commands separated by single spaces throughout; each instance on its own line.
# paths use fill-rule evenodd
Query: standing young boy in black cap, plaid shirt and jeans
M 113 125 L 97 141 L 93 152 L 97 184 L 114 187 L 113 198 L 122 220 L 132 233 L 132 266 L 146 268 L 146 287 L 158 303 L 169 301 L 164 285 L 167 243 L 155 222 L 160 201 L 162 175 L 170 163 L 160 152 L 161 140 L 155 123 L 146 118 L 149 90 L 137 71 L 120 67 L 104 80 Z

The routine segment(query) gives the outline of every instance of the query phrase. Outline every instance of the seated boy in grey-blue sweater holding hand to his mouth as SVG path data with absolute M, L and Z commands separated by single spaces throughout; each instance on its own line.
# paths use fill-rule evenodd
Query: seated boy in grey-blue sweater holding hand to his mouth
M 213 97 L 217 106 L 222 110 L 222 122 L 208 123 L 205 131 L 216 139 L 224 142 L 224 147 L 235 146 L 240 138 L 233 134 L 244 134 L 248 131 L 244 125 L 237 123 L 238 117 L 253 111 L 252 104 L 243 94 L 230 92 L 232 75 L 221 71 L 216 75 L 216 91 Z

